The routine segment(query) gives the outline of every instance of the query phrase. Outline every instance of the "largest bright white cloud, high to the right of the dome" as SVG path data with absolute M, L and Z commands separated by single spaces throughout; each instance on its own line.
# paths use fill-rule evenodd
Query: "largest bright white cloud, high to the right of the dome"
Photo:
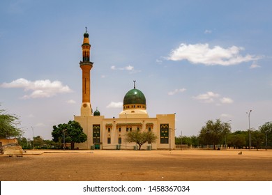
M 239 54 L 243 47 L 232 46 L 227 49 L 220 46 L 213 48 L 209 44 L 186 45 L 182 43 L 178 48 L 172 50 L 165 59 L 171 61 L 188 60 L 190 63 L 202 63 L 204 65 L 235 65 L 248 61 L 260 59 L 259 56 Z

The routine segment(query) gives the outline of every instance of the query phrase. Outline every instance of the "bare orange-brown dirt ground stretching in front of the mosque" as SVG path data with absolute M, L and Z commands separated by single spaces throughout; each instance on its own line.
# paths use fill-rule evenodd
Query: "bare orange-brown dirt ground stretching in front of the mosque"
M 272 150 L 27 150 L 1 181 L 272 181 Z

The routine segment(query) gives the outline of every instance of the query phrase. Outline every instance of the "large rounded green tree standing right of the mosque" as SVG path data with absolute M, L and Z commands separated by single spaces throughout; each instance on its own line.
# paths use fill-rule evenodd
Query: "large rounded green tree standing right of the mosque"
M 221 123 L 220 119 L 216 122 L 208 120 L 206 126 L 203 126 L 199 132 L 199 141 L 204 145 L 213 145 L 213 149 L 216 150 L 216 144 L 224 143 L 225 137 L 230 133 L 229 123 Z

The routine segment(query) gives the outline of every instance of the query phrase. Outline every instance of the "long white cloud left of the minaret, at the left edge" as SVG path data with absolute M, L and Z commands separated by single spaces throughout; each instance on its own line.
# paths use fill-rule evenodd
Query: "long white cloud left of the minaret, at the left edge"
M 2 88 L 24 88 L 24 91 L 32 91 L 29 95 L 24 95 L 23 99 L 29 98 L 50 98 L 58 93 L 70 93 L 72 90 L 68 86 L 63 86 L 61 81 L 17 79 L 10 83 L 3 83 Z

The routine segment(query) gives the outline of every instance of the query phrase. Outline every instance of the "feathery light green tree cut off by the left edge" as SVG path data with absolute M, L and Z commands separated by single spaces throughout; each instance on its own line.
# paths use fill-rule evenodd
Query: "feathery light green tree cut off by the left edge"
M 16 127 L 17 125 L 20 125 L 20 120 L 17 116 L 8 114 L 5 110 L 0 109 L 0 138 L 20 137 L 23 132 Z

